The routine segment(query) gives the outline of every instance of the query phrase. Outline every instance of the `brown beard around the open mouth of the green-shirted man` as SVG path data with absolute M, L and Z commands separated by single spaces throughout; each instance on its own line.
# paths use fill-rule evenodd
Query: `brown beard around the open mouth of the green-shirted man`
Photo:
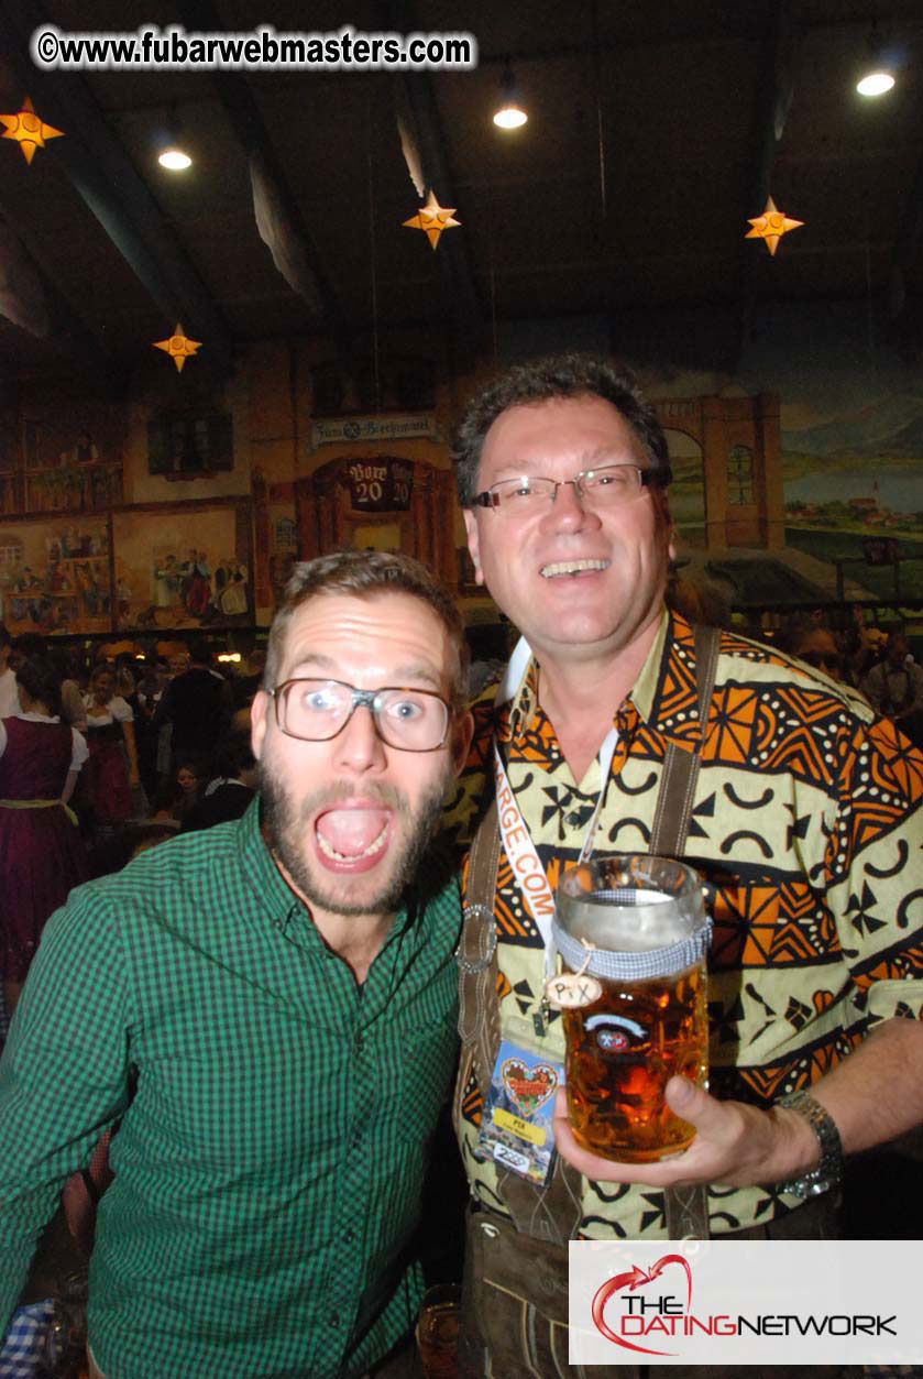
M 404 892 L 417 873 L 423 855 L 438 827 L 442 801 L 453 776 L 452 763 L 446 760 L 442 776 L 420 797 L 416 809 L 411 808 L 411 801 L 404 790 L 398 790 L 395 786 L 362 786 L 364 797 L 388 805 L 401 827 L 400 832 L 394 829 L 388 849 L 382 859 L 383 874 L 377 878 L 377 889 L 358 899 L 353 896 L 357 888 L 369 884 L 371 874 L 325 876 L 320 863 L 311 862 L 306 837 L 306 830 L 310 827 L 309 819 L 314 811 L 351 798 L 355 789 L 342 782 L 322 790 L 314 790 L 296 804 L 260 761 L 259 790 L 270 848 L 309 905 L 317 905 L 332 914 L 349 917 L 390 914 L 400 909 Z

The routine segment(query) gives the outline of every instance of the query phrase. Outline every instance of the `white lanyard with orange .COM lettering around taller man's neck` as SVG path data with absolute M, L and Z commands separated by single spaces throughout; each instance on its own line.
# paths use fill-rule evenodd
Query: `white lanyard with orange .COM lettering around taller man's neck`
M 510 665 L 507 666 L 506 674 L 497 687 L 495 701 L 497 705 L 504 703 L 507 699 L 514 696 L 522 684 L 522 677 L 530 658 L 532 650 L 529 643 L 525 637 L 521 637 L 512 655 L 510 656 Z M 587 836 L 580 849 L 581 862 L 585 862 L 592 852 L 592 843 L 597 833 L 597 825 L 599 823 L 599 812 L 606 794 L 606 786 L 609 785 L 609 771 L 612 769 L 612 757 L 616 750 L 617 741 L 619 732 L 613 727 L 609 729 L 603 738 L 602 746 L 599 747 L 599 796 L 587 827 Z M 510 859 L 512 876 L 519 887 L 525 906 L 535 920 L 539 934 L 541 935 L 541 942 L 544 945 L 546 975 L 550 976 L 552 971 L 551 921 L 554 918 L 554 892 L 548 884 L 546 870 L 541 866 L 541 859 L 539 858 L 536 845 L 532 841 L 529 827 L 522 818 L 522 811 L 519 809 L 517 797 L 512 793 L 510 778 L 507 776 L 506 767 L 503 765 L 503 757 L 500 756 L 500 746 L 496 738 L 493 739 L 493 778 L 497 792 L 497 822 L 500 825 L 503 848 Z

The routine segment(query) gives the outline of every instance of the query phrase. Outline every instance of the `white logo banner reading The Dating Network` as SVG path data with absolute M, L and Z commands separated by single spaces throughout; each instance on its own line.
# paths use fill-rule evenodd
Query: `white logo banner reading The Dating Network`
M 570 1364 L 923 1364 L 915 1240 L 572 1241 Z

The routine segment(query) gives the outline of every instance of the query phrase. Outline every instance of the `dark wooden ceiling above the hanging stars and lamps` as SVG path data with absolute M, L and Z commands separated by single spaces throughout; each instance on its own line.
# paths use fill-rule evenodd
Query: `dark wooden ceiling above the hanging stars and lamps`
M 278 30 L 471 32 L 471 72 L 47 73 L 61 30 L 248 30 L 249 0 L 0 0 L 0 97 L 65 131 L 30 167 L 0 142 L 0 217 L 45 291 L 44 339 L 0 321 L 7 378 L 85 367 L 117 385 L 176 319 L 219 372 L 251 341 L 325 334 L 343 356 L 406 330 L 470 352 L 504 323 L 708 314 L 726 367 L 770 303 L 867 302 L 923 346 L 923 11 L 919 0 L 266 0 Z M 853 87 L 875 33 L 894 91 Z M 529 109 L 490 114 L 510 61 Z M 437 252 L 395 110 L 463 228 Z M 156 163 L 175 114 L 194 154 Z M 304 265 L 298 295 L 258 233 L 256 161 Z M 745 241 L 774 197 L 805 228 L 776 258 Z

